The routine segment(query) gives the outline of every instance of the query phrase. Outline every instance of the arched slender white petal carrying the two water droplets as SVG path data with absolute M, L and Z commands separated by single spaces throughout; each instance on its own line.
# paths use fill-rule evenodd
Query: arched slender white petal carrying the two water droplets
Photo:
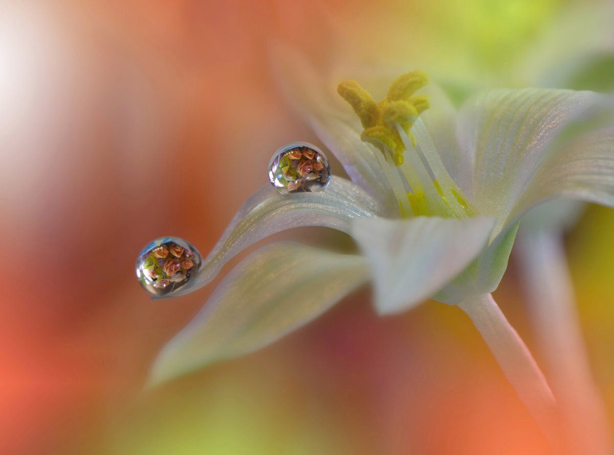
M 233 256 L 274 233 L 302 226 L 323 226 L 349 233 L 352 219 L 376 217 L 377 210 L 375 200 L 343 177 L 333 176 L 328 187 L 317 193 L 281 195 L 271 185 L 265 185 L 236 213 L 203 261 L 198 276 L 174 292 L 173 297 L 206 286 Z

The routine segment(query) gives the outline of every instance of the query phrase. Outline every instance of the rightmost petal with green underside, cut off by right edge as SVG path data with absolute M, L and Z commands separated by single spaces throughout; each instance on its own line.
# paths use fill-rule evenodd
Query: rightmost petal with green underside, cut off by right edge
M 614 128 L 581 136 L 543 160 L 503 231 L 437 299 L 457 303 L 495 290 L 507 268 L 519 220 L 521 231 L 561 231 L 580 214 L 577 200 L 614 206 Z

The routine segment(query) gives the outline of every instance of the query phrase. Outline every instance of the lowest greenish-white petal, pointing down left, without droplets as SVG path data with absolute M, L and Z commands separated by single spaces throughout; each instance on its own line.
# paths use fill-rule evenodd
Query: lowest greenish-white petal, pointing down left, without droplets
M 150 384 L 262 348 L 367 281 L 368 263 L 295 243 L 265 246 L 236 266 L 158 356 Z

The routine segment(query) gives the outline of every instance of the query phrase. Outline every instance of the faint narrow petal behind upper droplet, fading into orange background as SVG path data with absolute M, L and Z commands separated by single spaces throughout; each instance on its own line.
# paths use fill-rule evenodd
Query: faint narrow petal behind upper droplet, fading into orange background
M 273 72 L 294 111 L 340 161 L 348 176 L 379 203 L 397 210 L 375 147 L 362 142 L 362 127 L 336 93 L 341 80 L 327 79 L 300 52 L 278 44 L 271 52 Z

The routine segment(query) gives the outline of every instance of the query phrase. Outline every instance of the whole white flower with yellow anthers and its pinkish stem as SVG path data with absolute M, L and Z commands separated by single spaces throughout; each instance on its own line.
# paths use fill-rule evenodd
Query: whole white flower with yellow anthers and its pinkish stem
M 292 227 L 344 231 L 363 255 L 287 243 L 259 249 L 161 352 L 153 383 L 260 348 L 372 279 L 381 314 L 427 297 L 459 304 L 548 427 L 550 390 L 489 293 L 505 271 L 519 219 L 535 204 L 559 197 L 614 204 L 614 129 L 550 150 L 565 126 L 603 98 L 489 90 L 454 112 L 432 88 L 432 107 L 424 111 L 424 97 L 414 91 L 425 81 L 414 72 L 397 79 L 379 104 L 355 82 L 341 85 L 360 126 L 317 73 L 290 55 L 282 65 L 292 69 L 282 76 L 286 91 L 351 181 L 334 176 L 324 192 L 291 195 L 265 185 L 239 209 L 198 278 L 177 294 L 205 286 L 244 248 Z

